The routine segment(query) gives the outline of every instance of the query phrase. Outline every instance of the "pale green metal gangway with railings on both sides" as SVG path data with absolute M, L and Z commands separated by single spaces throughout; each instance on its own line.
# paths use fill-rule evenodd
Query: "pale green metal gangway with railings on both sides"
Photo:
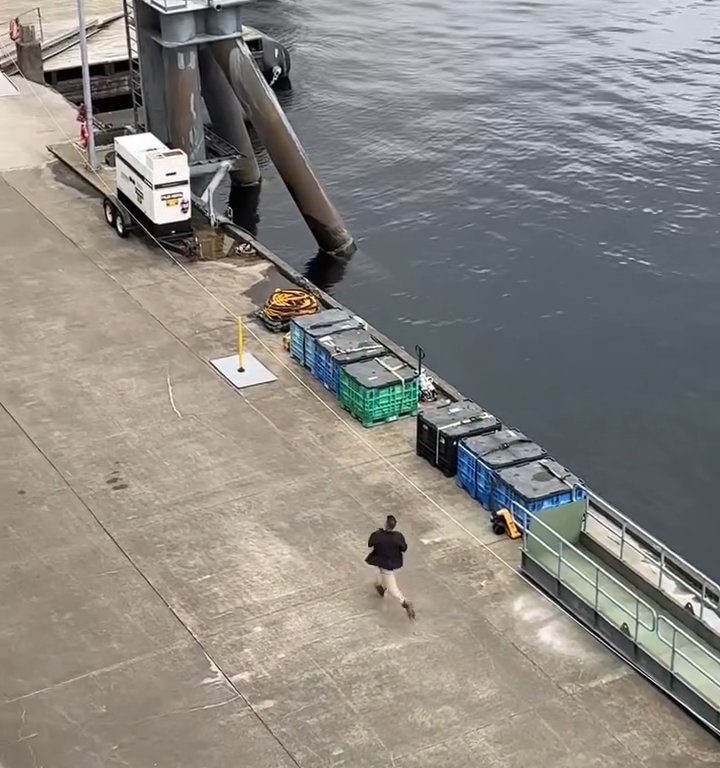
M 525 519 L 522 571 L 720 735 L 720 589 L 602 499 Z

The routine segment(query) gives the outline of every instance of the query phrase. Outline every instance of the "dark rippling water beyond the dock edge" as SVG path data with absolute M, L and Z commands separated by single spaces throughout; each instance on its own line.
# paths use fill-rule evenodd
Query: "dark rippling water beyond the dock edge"
M 247 9 L 360 241 L 334 295 L 720 576 L 720 4 Z M 259 234 L 302 267 L 268 176 Z

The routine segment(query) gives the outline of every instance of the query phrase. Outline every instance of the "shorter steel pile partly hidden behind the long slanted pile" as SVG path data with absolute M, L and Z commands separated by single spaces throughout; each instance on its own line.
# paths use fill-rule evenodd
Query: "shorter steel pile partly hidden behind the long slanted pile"
M 259 183 L 260 168 L 245 127 L 245 112 L 225 73 L 206 47 L 200 49 L 200 77 L 213 130 L 243 155 L 233 164 L 233 179 L 243 185 Z

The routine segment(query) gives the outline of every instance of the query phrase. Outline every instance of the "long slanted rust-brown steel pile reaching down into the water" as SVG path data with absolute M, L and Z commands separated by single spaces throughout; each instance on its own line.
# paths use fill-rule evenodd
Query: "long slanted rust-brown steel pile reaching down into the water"
M 210 47 L 320 249 L 336 255 L 352 254 L 355 242 L 247 45 L 242 40 L 218 40 Z

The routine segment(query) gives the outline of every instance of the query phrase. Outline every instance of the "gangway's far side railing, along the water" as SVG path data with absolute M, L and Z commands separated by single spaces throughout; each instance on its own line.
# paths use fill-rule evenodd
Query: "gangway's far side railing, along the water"
M 587 513 L 583 520 L 583 530 L 586 533 L 588 533 L 587 521 L 588 519 L 592 519 L 603 526 L 603 528 L 605 528 L 605 530 L 609 533 L 615 535 L 619 534 L 620 550 L 618 557 L 622 562 L 630 565 L 630 567 L 632 567 L 632 565 L 627 563 L 627 560 L 624 557 L 626 546 L 631 547 L 643 557 L 647 557 L 648 554 L 656 555 L 657 563 L 654 563 L 654 565 L 658 568 L 658 579 L 654 586 L 656 586 L 659 590 L 662 590 L 663 578 L 668 576 L 669 578 L 681 584 L 685 589 L 687 589 L 697 598 L 698 602 L 700 603 L 700 610 L 698 615 L 700 621 L 704 620 L 705 608 L 713 611 L 715 616 L 719 615 L 717 600 L 713 600 L 710 595 L 714 595 L 716 598 L 720 596 L 720 587 L 712 579 L 705 576 L 689 563 L 686 563 L 680 557 L 680 555 L 677 555 L 669 547 L 665 546 L 651 534 L 644 531 L 639 525 L 632 522 L 632 520 L 626 518 L 624 515 L 622 515 L 622 513 L 615 510 L 614 507 L 607 504 L 607 502 L 602 502 L 599 497 L 596 497 L 595 494 L 591 494 L 590 491 L 588 491 L 588 494 L 591 495 L 591 500 L 598 507 L 599 511 L 596 512 L 590 506 L 588 506 Z M 600 507 L 596 503 L 596 499 L 605 504 L 608 509 L 606 510 Z M 643 547 L 643 545 L 645 546 Z M 668 563 L 672 563 L 676 567 L 670 571 L 668 569 Z M 697 584 L 700 584 L 700 588 L 698 588 L 692 582 L 688 581 L 687 578 L 684 578 L 682 573 L 683 571 L 687 571 L 691 578 Z M 704 623 L 707 625 L 707 622 Z M 710 628 L 713 630 L 717 629 L 716 627 Z

